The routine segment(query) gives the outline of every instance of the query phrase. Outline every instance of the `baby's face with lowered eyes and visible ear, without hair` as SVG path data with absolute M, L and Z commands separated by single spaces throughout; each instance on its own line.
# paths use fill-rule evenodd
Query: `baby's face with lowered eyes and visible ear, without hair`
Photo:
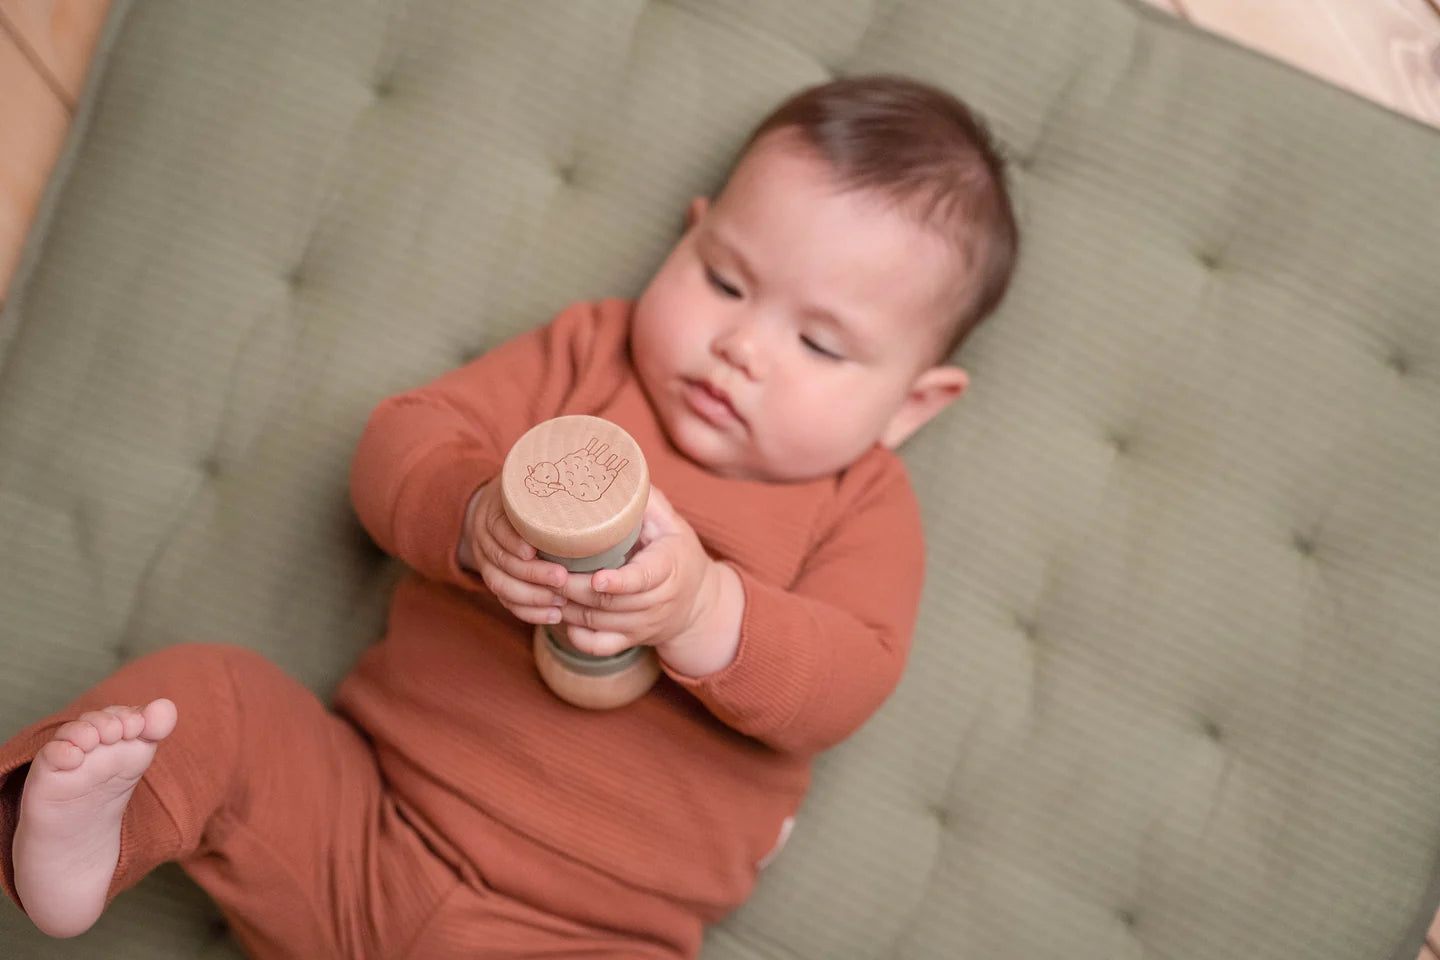
M 762 138 L 691 214 L 631 340 L 690 459 L 746 479 L 834 474 L 963 390 L 958 367 L 932 367 L 956 302 L 955 252 L 886 197 L 840 190 L 792 132 Z

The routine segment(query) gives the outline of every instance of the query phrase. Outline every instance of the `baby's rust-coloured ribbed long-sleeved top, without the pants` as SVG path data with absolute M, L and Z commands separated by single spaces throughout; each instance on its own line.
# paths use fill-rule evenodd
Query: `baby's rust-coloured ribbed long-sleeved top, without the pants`
M 573 305 L 374 410 L 354 505 L 416 574 L 337 708 L 373 737 L 410 818 L 485 882 L 576 900 L 557 907 L 602 921 L 621 901 L 644 913 L 654 895 L 708 923 L 749 894 L 814 756 L 894 689 L 924 551 L 904 466 L 878 446 L 840 475 L 793 484 L 724 479 L 684 458 L 631 366 L 631 311 Z M 613 711 L 550 694 L 533 628 L 456 560 L 471 494 L 521 433 L 567 413 L 625 427 L 651 482 L 744 589 L 729 666 L 667 671 Z M 572 894 L 554 892 L 562 874 Z

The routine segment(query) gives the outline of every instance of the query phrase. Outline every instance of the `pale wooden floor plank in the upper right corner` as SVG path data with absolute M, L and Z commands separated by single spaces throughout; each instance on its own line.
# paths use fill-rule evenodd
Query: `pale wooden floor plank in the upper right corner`
M 1440 125 L 1440 13 L 1428 0 L 1184 0 L 1198 26 Z

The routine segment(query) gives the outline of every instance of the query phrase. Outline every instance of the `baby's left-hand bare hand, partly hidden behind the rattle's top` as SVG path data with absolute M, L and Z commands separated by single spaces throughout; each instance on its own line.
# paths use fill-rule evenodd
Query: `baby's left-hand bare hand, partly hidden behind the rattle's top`
M 567 570 L 536 558 L 500 504 L 500 482 L 485 484 L 469 498 L 458 548 L 459 566 L 478 573 L 495 599 L 526 623 L 559 623 L 564 603 L 557 590 Z

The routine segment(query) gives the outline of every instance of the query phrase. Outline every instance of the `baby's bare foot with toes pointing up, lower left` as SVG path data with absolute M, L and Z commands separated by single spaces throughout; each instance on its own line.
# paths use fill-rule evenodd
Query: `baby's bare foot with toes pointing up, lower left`
M 85 933 L 105 908 L 120 862 L 120 819 L 176 705 L 107 707 L 65 724 L 30 764 L 14 830 L 14 885 L 52 937 Z

